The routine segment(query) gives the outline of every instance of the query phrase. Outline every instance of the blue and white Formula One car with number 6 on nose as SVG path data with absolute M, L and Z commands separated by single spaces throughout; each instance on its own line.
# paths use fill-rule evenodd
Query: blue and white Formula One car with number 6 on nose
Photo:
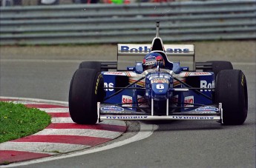
M 216 120 L 243 124 L 247 117 L 246 76 L 229 61 L 195 62 L 194 45 L 118 44 L 117 61 L 83 61 L 73 74 L 70 116 L 78 124 L 102 120 Z M 127 60 L 124 60 L 124 58 Z M 119 64 L 145 56 L 134 67 Z M 191 56 L 193 69 L 168 56 Z M 123 60 L 123 61 L 120 61 Z M 116 70 L 114 70 L 116 69 Z

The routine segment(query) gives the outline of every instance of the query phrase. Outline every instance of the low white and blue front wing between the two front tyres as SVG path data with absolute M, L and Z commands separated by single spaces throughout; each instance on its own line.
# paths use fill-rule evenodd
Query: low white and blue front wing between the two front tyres
M 167 100 L 168 102 L 168 100 Z M 98 123 L 102 120 L 212 120 L 223 124 L 222 104 L 207 105 L 198 107 L 188 112 L 168 112 L 166 105 L 166 115 L 154 115 L 154 101 L 151 101 L 151 114 L 146 112 L 134 112 L 128 108 L 110 104 L 97 103 Z

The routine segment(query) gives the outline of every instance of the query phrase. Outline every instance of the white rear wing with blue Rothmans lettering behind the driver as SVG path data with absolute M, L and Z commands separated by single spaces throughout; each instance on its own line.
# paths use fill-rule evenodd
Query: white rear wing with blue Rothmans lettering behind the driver
M 128 62 L 142 61 L 143 57 L 151 52 L 152 44 L 117 44 L 117 69 L 122 70 L 124 64 Z M 188 56 L 193 57 L 194 69 L 194 44 L 165 44 L 163 52 L 165 52 L 168 60 L 171 61 L 171 56 Z M 157 50 L 156 50 L 157 51 Z M 137 56 L 136 58 L 133 56 Z M 131 64 L 129 65 L 131 66 Z

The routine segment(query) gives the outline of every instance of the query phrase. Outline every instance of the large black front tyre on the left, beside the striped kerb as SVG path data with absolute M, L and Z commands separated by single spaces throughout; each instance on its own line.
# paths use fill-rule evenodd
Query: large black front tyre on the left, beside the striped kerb
M 73 74 L 69 91 L 70 117 L 77 124 L 95 124 L 97 101 L 104 98 L 102 75 L 94 69 L 78 69 Z

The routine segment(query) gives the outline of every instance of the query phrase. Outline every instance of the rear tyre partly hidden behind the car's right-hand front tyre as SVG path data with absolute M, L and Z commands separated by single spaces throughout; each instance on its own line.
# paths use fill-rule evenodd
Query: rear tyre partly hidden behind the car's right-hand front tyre
M 212 64 L 211 70 L 204 70 L 205 72 L 213 72 L 215 79 L 220 70 L 233 70 L 232 63 L 230 61 L 207 61 Z

